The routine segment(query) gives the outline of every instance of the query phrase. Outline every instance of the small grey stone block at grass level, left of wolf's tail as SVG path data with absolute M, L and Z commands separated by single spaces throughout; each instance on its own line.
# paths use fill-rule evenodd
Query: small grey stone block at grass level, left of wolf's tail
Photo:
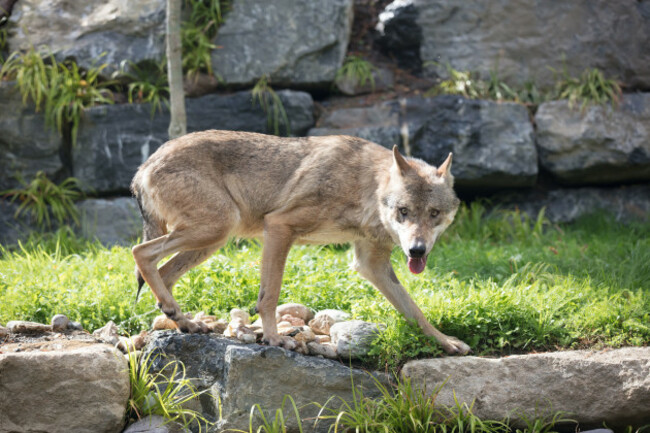
M 131 246 L 142 236 L 142 217 L 133 198 L 86 199 L 77 204 L 81 234 L 105 246 Z

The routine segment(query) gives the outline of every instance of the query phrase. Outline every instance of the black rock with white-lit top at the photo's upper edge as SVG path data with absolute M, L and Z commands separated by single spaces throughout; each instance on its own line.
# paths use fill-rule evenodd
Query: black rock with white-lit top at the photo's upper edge
M 377 45 L 384 54 L 397 60 L 400 68 L 419 74 L 422 72 L 422 29 L 416 24 L 419 13 L 413 3 L 413 0 L 396 0 L 379 14 Z

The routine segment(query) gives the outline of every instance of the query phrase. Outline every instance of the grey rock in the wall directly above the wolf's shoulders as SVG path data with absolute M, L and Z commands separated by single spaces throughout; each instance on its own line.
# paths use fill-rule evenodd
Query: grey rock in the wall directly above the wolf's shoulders
M 399 113 L 392 103 L 340 108 L 325 113 L 308 135 L 352 135 L 392 148 L 400 143 Z

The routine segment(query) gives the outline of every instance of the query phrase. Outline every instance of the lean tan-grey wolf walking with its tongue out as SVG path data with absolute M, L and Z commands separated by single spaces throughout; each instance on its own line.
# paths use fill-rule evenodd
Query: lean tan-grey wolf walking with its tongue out
M 133 247 L 139 289 L 146 282 L 161 311 L 182 332 L 207 332 L 182 314 L 176 281 L 230 238 L 263 240 L 257 312 L 263 339 L 288 347 L 275 310 L 292 244 L 354 244 L 353 268 L 425 335 L 450 354 L 467 344 L 434 328 L 391 266 L 395 244 L 421 273 L 459 200 L 452 155 L 434 167 L 397 150 L 349 136 L 277 137 L 203 131 L 168 141 L 131 184 L 143 219 Z M 158 262 L 174 254 L 163 266 Z

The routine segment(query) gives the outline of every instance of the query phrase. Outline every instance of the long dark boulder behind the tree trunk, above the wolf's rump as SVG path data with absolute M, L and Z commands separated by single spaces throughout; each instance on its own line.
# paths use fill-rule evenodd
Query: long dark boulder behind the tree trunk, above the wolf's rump
M 290 90 L 278 95 L 291 132 L 304 134 L 313 123 L 311 96 Z M 250 92 L 188 98 L 186 111 L 188 132 L 272 132 L 266 113 L 253 104 Z M 152 114 L 149 104 L 128 104 L 93 107 L 83 114 L 77 146 L 72 151 L 74 175 L 86 189 L 98 193 L 128 191 L 140 164 L 167 141 L 169 112 L 165 109 Z

